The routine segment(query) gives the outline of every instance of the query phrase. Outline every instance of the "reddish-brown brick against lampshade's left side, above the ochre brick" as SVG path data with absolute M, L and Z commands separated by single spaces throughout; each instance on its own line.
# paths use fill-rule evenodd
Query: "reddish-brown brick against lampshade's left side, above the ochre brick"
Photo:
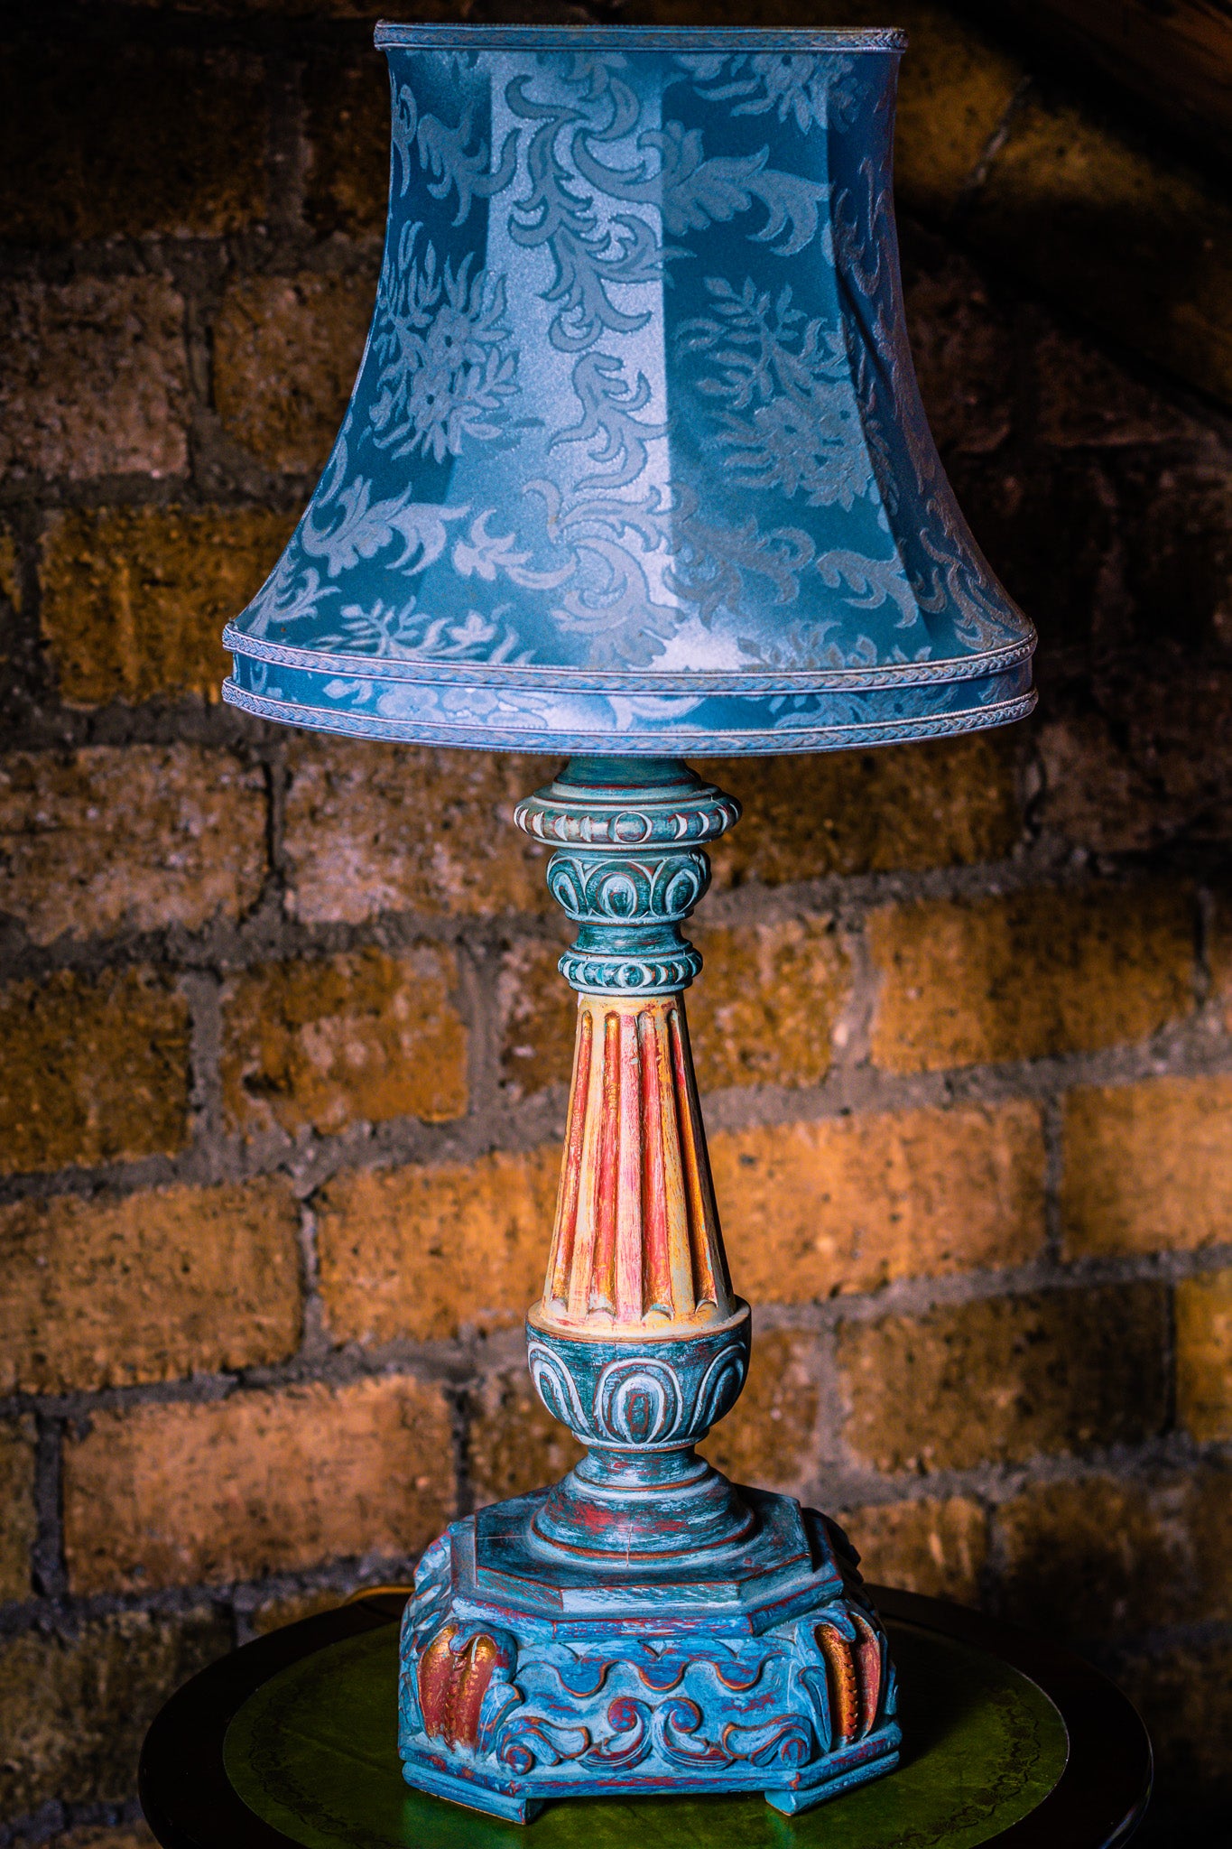
M 272 470 L 320 471 L 351 398 L 375 276 L 255 276 L 214 322 L 223 429 Z

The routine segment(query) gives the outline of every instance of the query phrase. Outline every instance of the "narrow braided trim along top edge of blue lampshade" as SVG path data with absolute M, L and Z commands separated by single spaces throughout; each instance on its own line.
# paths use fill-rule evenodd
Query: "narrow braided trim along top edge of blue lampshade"
M 733 52 L 892 52 L 907 50 L 898 26 L 822 31 L 813 28 L 748 30 L 743 26 L 453 26 L 379 20 L 373 43 L 380 50 L 610 50 L 674 52 L 696 48 Z

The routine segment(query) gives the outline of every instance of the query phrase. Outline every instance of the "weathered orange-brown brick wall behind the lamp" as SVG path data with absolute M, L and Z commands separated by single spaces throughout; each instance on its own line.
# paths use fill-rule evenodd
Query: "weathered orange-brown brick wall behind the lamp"
M 1108 1666 L 1182 1840 L 1232 1806 L 1230 205 L 957 11 L 887 11 L 922 383 L 1042 704 L 707 767 L 746 819 L 691 1008 L 759 1331 L 709 1453 Z M 550 765 L 218 704 L 366 329 L 368 6 L 33 15 L 0 15 L 0 1818 L 126 1849 L 170 1688 L 571 1459 L 519 1335 L 571 1010 L 508 827 Z

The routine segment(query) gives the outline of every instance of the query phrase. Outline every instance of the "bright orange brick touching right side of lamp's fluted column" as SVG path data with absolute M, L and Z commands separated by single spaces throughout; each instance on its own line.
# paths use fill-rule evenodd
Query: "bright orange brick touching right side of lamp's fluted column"
M 731 1274 L 754 1302 L 1025 1265 L 1044 1250 L 1034 1104 L 722 1132 L 711 1165 Z

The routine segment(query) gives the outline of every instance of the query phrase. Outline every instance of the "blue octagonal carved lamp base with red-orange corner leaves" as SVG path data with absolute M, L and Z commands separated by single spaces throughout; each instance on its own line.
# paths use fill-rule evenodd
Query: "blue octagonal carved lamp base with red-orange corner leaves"
M 513 1821 L 615 1792 L 765 1792 L 791 1812 L 898 1762 L 885 1635 L 824 1516 L 741 1490 L 741 1544 L 598 1577 L 536 1540 L 545 1496 L 454 1522 L 419 1562 L 408 1784 Z

